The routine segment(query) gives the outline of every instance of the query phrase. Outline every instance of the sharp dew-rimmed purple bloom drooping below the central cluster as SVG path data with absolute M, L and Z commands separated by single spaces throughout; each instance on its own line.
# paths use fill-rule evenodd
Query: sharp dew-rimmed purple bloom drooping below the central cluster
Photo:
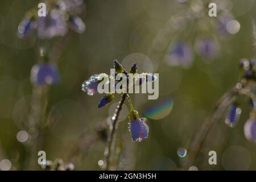
M 129 131 L 133 142 L 141 142 L 148 137 L 148 126 L 143 121 L 143 118 L 129 122 Z

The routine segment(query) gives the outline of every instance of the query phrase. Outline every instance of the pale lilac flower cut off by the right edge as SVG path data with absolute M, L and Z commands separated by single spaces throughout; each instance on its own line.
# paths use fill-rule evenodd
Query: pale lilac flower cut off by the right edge
M 248 140 L 256 142 L 256 119 L 248 119 L 243 127 L 243 132 Z

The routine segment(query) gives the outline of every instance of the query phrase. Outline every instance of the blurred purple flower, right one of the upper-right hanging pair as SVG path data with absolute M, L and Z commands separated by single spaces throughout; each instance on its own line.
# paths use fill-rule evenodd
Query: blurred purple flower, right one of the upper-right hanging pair
M 213 59 L 218 55 L 219 45 L 211 38 L 197 39 L 195 43 L 196 52 L 206 59 Z

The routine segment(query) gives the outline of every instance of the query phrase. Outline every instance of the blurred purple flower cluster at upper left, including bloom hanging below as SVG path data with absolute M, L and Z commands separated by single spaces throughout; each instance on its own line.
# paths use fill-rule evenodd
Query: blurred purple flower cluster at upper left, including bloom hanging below
M 68 28 L 82 33 L 85 24 L 78 16 L 84 3 L 82 0 L 51 0 L 44 1 L 47 7 L 46 16 L 38 16 L 38 9 L 26 13 L 18 27 L 19 38 L 28 38 L 35 33 L 39 40 L 64 36 Z M 36 85 L 52 85 L 60 83 L 60 76 L 56 64 L 46 55 L 46 48 L 40 47 L 39 63 L 31 69 L 31 82 Z

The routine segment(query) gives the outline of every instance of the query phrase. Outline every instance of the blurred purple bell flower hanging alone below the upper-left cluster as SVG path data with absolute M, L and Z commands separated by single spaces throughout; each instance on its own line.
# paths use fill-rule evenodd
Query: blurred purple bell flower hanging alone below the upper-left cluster
M 36 64 L 31 69 L 31 82 L 38 85 L 59 84 L 59 72 L 54 64 Z

